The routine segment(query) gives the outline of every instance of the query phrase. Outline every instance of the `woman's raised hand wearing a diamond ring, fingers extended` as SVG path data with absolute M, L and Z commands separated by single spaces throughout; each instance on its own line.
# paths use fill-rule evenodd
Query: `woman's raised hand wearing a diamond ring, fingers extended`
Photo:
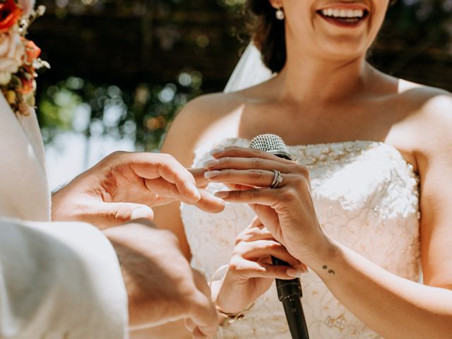
M 209 170 L 206 177 L 233 189 L 215 196 L 231 203 L 249 203 L 273 237 L 308 266 L 331 253 L 333 245 L 314 210 L 307 167 L 249 148 L 222 148 L 211 154 L 215 160 L 204 164 Z M 283 182 L 270 189 L 275 170 Z

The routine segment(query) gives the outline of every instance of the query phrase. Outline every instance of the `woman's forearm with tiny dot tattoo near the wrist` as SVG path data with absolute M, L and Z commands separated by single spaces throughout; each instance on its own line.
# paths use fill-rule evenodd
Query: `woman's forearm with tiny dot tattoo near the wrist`
M 355 316 L 386 339 L 444 339 L 452 333 L 452 291 L 400 278 L 335 243 L 311 265 Z

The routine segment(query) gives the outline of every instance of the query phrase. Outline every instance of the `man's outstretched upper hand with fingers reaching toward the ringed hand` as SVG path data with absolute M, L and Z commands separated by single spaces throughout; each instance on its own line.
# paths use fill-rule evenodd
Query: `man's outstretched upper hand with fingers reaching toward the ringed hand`
M 191 172 L 167 154 L 112 153 L 53 194 L 52 220 L 109 227 L 152 220 L 153 206 L 172 201 L 221 212 L 224 203 L 198 188 L 206 185 L 203 170 Z

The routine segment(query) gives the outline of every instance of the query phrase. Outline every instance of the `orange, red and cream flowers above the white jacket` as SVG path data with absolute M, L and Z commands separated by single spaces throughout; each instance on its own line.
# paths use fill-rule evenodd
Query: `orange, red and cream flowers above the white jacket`
M 35 106 L 36 70 L 49 68 L 41 49 L 25 39 L 28 27 L 45 12 L 35 0 L 0 0 L 0 89 L 11 109 L 28 115 Z

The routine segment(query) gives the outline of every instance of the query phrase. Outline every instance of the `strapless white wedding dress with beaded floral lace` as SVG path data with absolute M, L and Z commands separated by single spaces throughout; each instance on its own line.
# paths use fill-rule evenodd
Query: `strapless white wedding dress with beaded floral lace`
M 196 150 L 195 167 L 208 151 L 227 145 L 248 147 L 231 138 Z M 312 196 L 327 234 L 382 268 L 414 281 L 420 279 L 419 181 L 396 148 L 374 141 L 288 147 L 311 174 Z M 211 192 L 225 189 L 210 184 Z M 182 205 L 182 220 L 193 254 L 192 266 L 207 279 L 230 261 L 239 232 L 254 213 L 246 205 L 227 204 L 220 214 Z M 302 303 L 311 339 L 380 338 L 335 299 L 312 271 L 302 275 Z M 221 326 L 218 338 L 290 338 L 275 285 L 243 319 Z

